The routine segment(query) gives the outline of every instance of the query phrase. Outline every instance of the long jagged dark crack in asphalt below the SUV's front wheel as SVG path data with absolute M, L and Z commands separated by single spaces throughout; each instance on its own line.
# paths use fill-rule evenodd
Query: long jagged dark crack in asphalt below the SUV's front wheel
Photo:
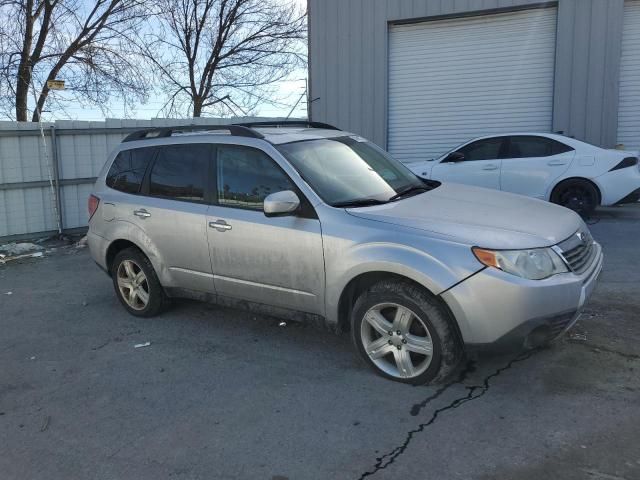
M 413 438 L 418 433 L 423 432 L 427 427 L 432 425 L 437 420 L 438 416 L 441 413 L 443 413 L 443 412 L 445 412 L 447 410 L 456 409 L 458 407 L 461 407 L 462 405 L 464 405 L 467 402 L 470 402 L 472 400 L 477 400 L 478 398 L 484 396 L 484 394 L 489 391 L 490 381 L 493 378 L 499 376 L 504 371 L 509 370 L 516 363 L 520 363 L 520 362 L 524 362 L 525 360 L 528 360 L 529 358 L 531 358 L 532 356 L 534 356 L 535 354 L 537 354 L 540 351 L 542 351 L 542 348 L 537 348 L 537 349 L 534 349 L 534 350 L 529 350 L 527 352 L 523 352 L 523 353 L 517 355 L 515 358 L 511 359 L 505 366 L 498 368 L 491 375 L 488 375 L 487 377 L 485 377 L 484 380 L 482 381 L 482 384 L 480 384 L 480 385 L 472 385 L 472 386 L 465 386 L 465 388 L 467 389 L 467 394 L 466 395 L 456 398 L 449 405 L 446 405 L 444 407 L 436 409 L 433 412 L 433 414 L 431 415 L 431 418 L 427 422 L 421 423 L 416 428 L 414 428 L 413 430 L 410 430 L 407 433 L 407 436 L 406 436 L 405 440 L 402 442 L 402 444 L 400 446 L 394 448 L 393 450 L 391 450 L 390 452 L 382 455 L 381 457 L 376 458 L 376 464 L 374 465 L 373 470 L 364 472 L 362 475 L 360 475 L 360 477 L 358 477 L 358 480 L 363 480 L 364 478 L 367 478 L 367 477 L 370 477 L 372 475 L 375 475 L 380 470 L 384 470 L 385 468 L 387 468 L 389 465 L 394 463 L 396 461 L 396 459 L 400 455 L 402 455 L 406 451 L 407 447 L 409 447 L 409 444 L 411 443 Z M 460 377 L 462 377 L 463 380 L 464 380 L 464 377 L 466 376 L 466 374 L 469 373 L 468 369 L 472 368 L 472 367 L 470 367 L 470 365 L 471 364 L 467 364 L 467 368 L 460 375 Z M 422 408 L 422 406 L 421 406 L 422 404 L 426 405 L 427 403 L 433 401 L 435 398 L 438 398 L 440 395 L 442 395 L 442 393 L 444 393 L 449 387 L 451 387 L 453 385 L 456 385 L 458 383 L 461 383 L 461 380 L 458 380 L 456 382 L 451 382 L 451 383 L 441 387 L 438 391 L 436 391 L 436 393 L 431 395 L 424 402 L 416 404 L 416 405 L 419 406 L 418 407 L 418 412 L 420 411 L 420 408 Z M 411 410 L 412 412 L 416 408 L 416 405 L 414 405 L 412 407 L 412 410 Z

